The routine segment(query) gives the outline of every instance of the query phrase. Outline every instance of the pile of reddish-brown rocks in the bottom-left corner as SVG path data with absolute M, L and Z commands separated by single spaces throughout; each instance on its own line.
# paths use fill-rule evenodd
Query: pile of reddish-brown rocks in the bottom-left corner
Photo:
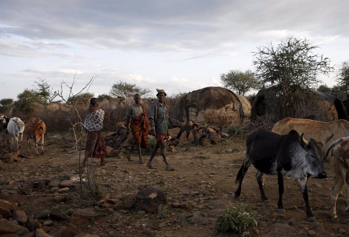
M 59 194 L 54 196 L 53 200 L 61 202 L 67 199 L 67 196 L 63 196 L 63 199 L 57 198 L 58 196 Z M 72 207 L 67 214 L 58 208 L 54 208 L 52 211 L 42 210 L 35 215 L 29 216 L 25 211 L 20 210 L 24 199 L 24 196 L 18 194 L 12 194 L 5 197 L 5 199 L 0 199 L 0 236 L 99 237 L 97 234 L 80 232 L 76 228 L 77 224 L 91 220 L 99 215 L 94 208 L 85 210 Z M 69 223 L 66 223 L 67 220 L 69 220 Z M 54 231 L 50 231 L 51 227 L 56 226 L 57 222 L 60 221 L 63 221 L 64 224 Z

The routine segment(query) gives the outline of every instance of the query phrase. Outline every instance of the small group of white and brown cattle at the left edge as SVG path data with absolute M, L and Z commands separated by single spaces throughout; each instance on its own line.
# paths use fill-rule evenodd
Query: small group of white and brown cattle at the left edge
M 29 152 L 29 141 L 33 140 L 35 155 L 38 155 L 37 144 L 41 140 L 41 154 L 44 153 L 43 144 L 46 133 L 46 125 L 40 118 L 29 118 L 23 122 L 20 118 L 8 118 L 5 115 L 0 117 L 0 132 L 4 133 L 8 148 L 11 151 L 11 143 L 8 140 L 7 133 L 11 135 L 11 140 L 15 139 L 16 148 L 22 144 L 23 134 L 27 139 L 27 152 Z

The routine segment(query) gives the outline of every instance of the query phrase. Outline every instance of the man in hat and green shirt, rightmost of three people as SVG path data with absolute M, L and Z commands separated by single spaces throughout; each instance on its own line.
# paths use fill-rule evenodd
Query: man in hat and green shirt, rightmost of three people
M 150 155 L 150 159 L 147 163 L 148 168 L 155 169 L 151 164 L 157 150 L 160 148 L 160 152 L 163 158 L 163 161 L 166 164 L 166 170 L 173 171 L 174 169 L 168 164 L 167 157 L 165 153 L 165 139 L 167 139 L 168 132 L 168 107 L 165 103 L 166 93 L 163 89 L 156 89 L 156 97 L 158 101 L 150 109 L 149 122 L 151 127 L 151 133 L 155 136 L 156 145 L 154 150 Z

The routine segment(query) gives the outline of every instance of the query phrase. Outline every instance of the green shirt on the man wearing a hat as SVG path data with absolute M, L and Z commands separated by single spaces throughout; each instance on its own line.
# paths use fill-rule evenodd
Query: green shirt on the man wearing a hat
M 161 105 L 161 103 L 158 101 L 156 104 L 154 104 L 150 109 L 149 119 L 154 119 L 156 105 L 157 105 L 157 116 L 156 116 L 157 121 L 154 121 L 155 132 L 167 134 L 168 108 L 166 106 L 166 103 L 163 103 L 163 105 Z

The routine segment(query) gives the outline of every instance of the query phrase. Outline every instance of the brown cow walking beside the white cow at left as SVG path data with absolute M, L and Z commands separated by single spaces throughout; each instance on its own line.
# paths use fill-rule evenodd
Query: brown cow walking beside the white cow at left
M 24 129 L 24 134 L 27 137 L 27 152 L 29 152 L 29 139 L 33 139 L 35 155 L 39 155 L 37 152 L 37 143 L 41 139 L 41 154 L 43 151 L 44 136 L 46 132 L 46 124 L 40 118 L 29 118 L 25 122 L 26 126 Z

